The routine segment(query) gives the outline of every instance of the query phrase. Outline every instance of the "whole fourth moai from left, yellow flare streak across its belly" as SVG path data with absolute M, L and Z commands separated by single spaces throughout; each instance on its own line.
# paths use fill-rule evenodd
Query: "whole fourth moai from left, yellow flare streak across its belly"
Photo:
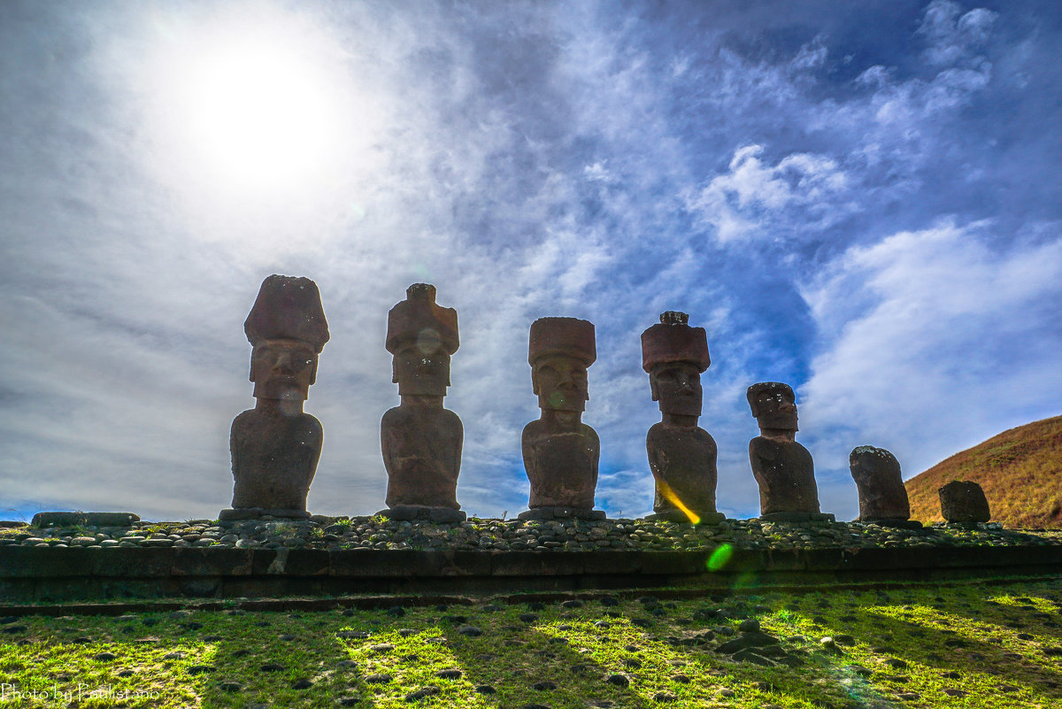
M 641 368 L 661 408 L 661 422 L 646 436 L 656 482 L 656 514 L 649 519 L 718 524 L 725 516 L 716 512 L 716 442 L 697 426 L 708 340 L 688 321 L 686 313 L 668 311 L 641 333 Z

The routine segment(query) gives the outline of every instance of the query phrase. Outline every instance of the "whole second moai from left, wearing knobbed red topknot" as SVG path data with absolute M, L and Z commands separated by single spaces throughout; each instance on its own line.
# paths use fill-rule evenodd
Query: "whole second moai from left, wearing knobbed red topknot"
M 458 313 L 435 305 L 435 287 L 413 283 L 388 313 L 386 347 L 401 403 L 380 420 L 391 519 L 465 519 L 457 500 L 464 429 L 443 409 L 450 356 L 458 349 Z

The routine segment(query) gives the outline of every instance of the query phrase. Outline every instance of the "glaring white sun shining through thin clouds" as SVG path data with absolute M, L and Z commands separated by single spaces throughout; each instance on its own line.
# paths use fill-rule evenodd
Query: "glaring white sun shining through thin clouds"
M 294 197 L 336 169 L 346 82 L 320 37 L 225 23 L 172 50 L 160 121 L 182 179 L 226 197 Z

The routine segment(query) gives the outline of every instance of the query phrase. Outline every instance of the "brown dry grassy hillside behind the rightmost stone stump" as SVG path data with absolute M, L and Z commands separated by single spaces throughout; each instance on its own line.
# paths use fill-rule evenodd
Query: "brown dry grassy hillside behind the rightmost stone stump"
M 1004 526 L 1062 528 L 1062 416 L 1004 431 L 908 480 L 911 519 L 943 521 L 937 489 L 953 480 L 978 483 Z

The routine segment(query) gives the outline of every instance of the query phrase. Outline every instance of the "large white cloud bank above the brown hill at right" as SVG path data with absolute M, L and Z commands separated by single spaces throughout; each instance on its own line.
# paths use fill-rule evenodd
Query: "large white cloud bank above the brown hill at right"
M 803 295 L 821 353 L 801 388 L 802 428 L 824 469 L 858 445 L 907 475 L 1010 426 L 1058 414 L 1062 230 L 1000 248 L 990 223 L 942 223 L 849 249 Z M 823 432 L 817 434 L 817 432 Z

